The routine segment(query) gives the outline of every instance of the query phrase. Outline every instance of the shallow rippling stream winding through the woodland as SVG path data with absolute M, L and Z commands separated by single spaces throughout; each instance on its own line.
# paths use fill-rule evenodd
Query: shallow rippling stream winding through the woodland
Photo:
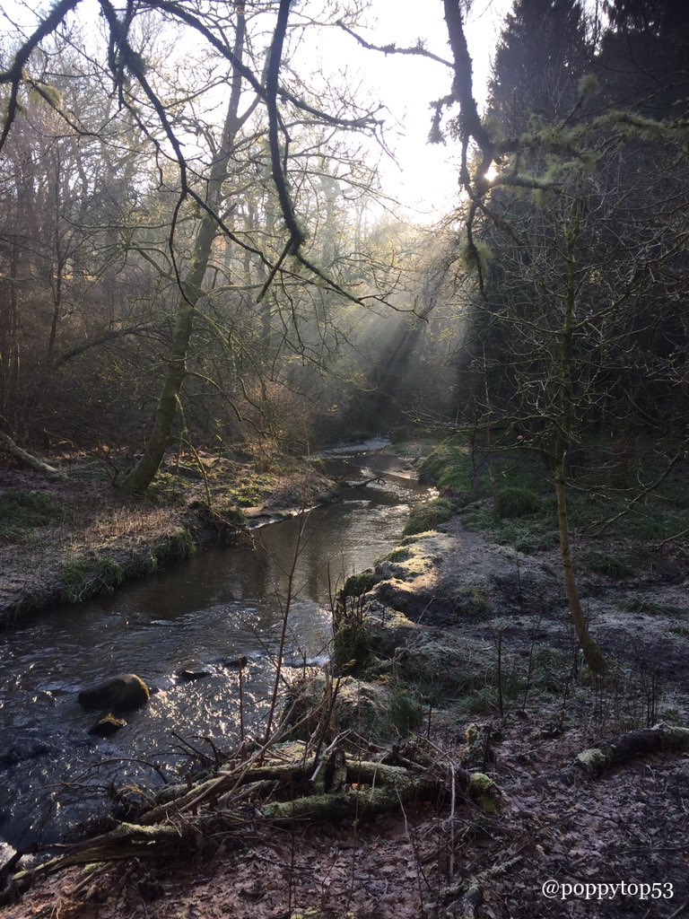
M 288 675 L 321 666 L 332 637 L 329 593 L 400 539 L 410 505 L 426 494 L 410 467 L 379 452 L 382 441 L 323 455 L 328 474 L 356 482 L 342 500 L 311 511 L 300 545 L 289 609 Z M 69 834 L 107 813 L 107 786 L 174 781 L 189 761 L 186 743 L 212 755 L 239 738 L 238 670 L 245 655 L 243 718 L 265 717 L 296 518 L 254 530 L 254 549 L 213 549 L 116 594 L 46 610 L 0 636 L 0 843 L 26 849 Z M 178 675 L 196 660 L 209 675 Z M 152 689 L 109 739 L 88 733 L 97 712 L 79 691 L 135 673 Z M 152 766 L 156 766 L 153 768 Z M 1 852 L 0 852 L 1 854 Z M 0 858 L 0 863 L 2 858 Z

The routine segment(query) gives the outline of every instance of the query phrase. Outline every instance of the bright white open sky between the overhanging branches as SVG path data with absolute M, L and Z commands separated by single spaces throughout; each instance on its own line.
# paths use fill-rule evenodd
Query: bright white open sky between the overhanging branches
M 40 4 L 39 8 L 48 5 Z M 474 94 L 479 107 L 485 101 L 490 75 L 491 54 L 500 25 L 512 0 L 473 0 L 466 21 L 469 53 L 474 66 Z M 94 7 L 84 3 L 84 11 Z M 28 10 L 36 7 L 25 0 L 5 0 L 6 14 L 27 22 Z M 423 11 L 423 12 L 422 12 Z M 0 29 L 6 30 L 0 19 Z M 372 44 L 412 47 L 423 40 L 424 47 L 441 58 L 450 58 L 442 0 L 372 0 L 362 25 L 361 36 Z M 361 48 L 356 40 L 339 28 L 322 30 L 320 44 L 309 48 L 313 66 L 322 65 L 326 72 L 346 71 L 348 85 L 360 86 L 386 110 L 385 142 L 394 159 L 381 155 L 371 146 L 371 155 L 379 156 L 379 175 L 385 192 L 406 206 L 412 220 L 435 221 L 452 207 L 457 195 L 457 146 L 427 142 L 431 125 L 429 104 L 446 96 L 452 80 L 448 68 L 422 57 L 382 54 Z

